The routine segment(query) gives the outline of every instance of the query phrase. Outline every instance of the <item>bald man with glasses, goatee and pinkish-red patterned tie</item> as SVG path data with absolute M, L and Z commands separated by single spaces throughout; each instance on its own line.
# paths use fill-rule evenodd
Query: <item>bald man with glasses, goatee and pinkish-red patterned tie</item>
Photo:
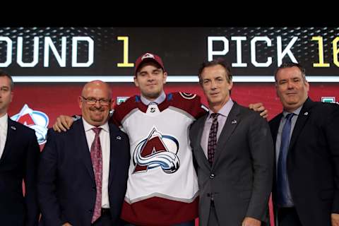
M 87 83 L 83 118 L 66 133 L 48 131 L 38 174 L 41 225 L 120 225 L 129 169 L 129 138 L 108 124 L 109 85 Z

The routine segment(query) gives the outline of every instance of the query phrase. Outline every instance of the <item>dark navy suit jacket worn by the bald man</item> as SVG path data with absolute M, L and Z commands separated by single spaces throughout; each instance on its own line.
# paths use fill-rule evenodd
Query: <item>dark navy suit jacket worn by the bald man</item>
M 113 225 L 119 225 L 129 169 L 129 138 L 109 124 L 109 207 Z M 73 226 L 91 224 L 95 206 L 95 177 L 83 120 L 75 121 L 69 131 L 49 129 L 42 150 L 38 174 L 41 225 Z

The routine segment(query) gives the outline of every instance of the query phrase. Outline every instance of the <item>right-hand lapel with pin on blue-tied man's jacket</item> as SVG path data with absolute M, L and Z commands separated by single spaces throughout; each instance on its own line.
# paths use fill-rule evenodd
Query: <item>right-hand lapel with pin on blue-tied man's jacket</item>
M 311 114 L 311 107 L 313 107 L 314 102 L 311 101 L 309 98 L 304 102 L 304 105 L 302 106 L 302 110 L 299 113 L 297 122 L 295 124 L 295 128 L 292 132 L 292 138 L 290 141 L 290 148 L 295 145 L 295 141 L 297 141 L 299 134 L 302 132 L 302 129 L 304 128 L 307 119 L 309 119 L 309 115 Z

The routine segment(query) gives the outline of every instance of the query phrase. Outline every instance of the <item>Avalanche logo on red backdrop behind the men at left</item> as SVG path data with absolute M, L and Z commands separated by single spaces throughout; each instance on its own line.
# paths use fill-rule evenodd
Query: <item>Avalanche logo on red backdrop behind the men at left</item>
M 20 112 L 13 115 L 11 119 L 34 129 L 40 145 L 46 142 L 49 119 L 44 112 L 33 111 L 28 105 L 24 105 Z

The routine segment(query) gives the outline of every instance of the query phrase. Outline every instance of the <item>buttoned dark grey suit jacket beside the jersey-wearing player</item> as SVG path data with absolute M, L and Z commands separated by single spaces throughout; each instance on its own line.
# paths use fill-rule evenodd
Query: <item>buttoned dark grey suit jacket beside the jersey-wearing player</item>
M 208 224 L 211 198 L 220 226 L 241 225 L 245 217 L 266 222 L 273 180 L 268 122 L 234 102 L 210 167 L 200 145 L 206 117 L 198 119 L 190 131 L 200 191 L 200 225 Z

